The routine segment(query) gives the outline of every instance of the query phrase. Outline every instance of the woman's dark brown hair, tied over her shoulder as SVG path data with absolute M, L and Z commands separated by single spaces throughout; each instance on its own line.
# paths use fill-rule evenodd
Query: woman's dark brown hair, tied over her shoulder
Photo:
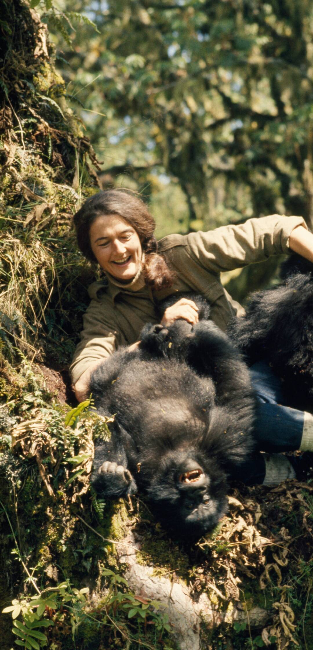
M 155 220 L 144 201 L 127 190 L 98 192 L 74 214 L 77 242 L 83 255 L 92 262 L 97 261 L 90 245 L 90 226 L 98 216 L 106 214 L 118 214 L 136 230 L 145 253 L 144 278 L 147 287 L 155 291 L 171 287 L 176 275 L 157 253 L 157 242 L 153 235 Z

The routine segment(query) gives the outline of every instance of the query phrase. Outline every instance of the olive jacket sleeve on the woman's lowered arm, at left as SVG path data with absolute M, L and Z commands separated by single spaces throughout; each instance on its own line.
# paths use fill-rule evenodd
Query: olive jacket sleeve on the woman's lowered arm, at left
M 81 342 L 77 345 L 69 367 L 72 383 L 75 384 L 90 363 L 109 357 L 117 348 L 118 332 L 103 315 L 103 305 L 92 300 L 83 317 Z

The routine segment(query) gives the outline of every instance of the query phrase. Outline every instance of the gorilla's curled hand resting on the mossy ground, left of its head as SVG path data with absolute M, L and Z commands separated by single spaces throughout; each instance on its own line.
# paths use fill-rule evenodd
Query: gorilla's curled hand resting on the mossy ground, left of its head
M 137 491 L 129 469 L 110 460 L 100 465 L 93 485 L 104 497 L 124 497 L 136 494 Z

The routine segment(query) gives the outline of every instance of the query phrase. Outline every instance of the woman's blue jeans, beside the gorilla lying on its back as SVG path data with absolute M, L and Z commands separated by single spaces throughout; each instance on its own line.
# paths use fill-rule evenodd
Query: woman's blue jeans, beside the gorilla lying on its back
M 299 449 L 304 413 L 284 404 L 281 380 L 273 374 L 268 362 L 258 361 L 251 366 L 250 374 L 258 400 L 254 429 L 258 451 L 240 466 L 240 474 L 245 484 L 251 486 L 264 481 L 265 461 L 260 451 L 277 454 Z

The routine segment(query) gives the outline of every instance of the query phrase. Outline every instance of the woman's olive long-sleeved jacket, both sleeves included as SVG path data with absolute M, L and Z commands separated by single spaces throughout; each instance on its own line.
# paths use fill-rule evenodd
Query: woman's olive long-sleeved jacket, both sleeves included
M 81 342 L 70 367 L 73 383 L 90 363 L 110 356 L 120 345 L 138 341 L 145 323 L 158 322 L 155 304 L 174 292 L 201 293 L 211 304 L 212 320 L 225 330 L 229 318 L 240 315 L 243 309 L 223 289 L 219 274 L 290 252 L 290 233 L 300 225 L 305 226 L 301 217 L 274 214 L 207 233 L 168 235 L 160 240 L 158 252 L 177 272 L 177 279 L 170 289 L 157 293 L 145 286 L 142 274 L 129 285 L 122 285 L 112 276 L 93 283 Z

